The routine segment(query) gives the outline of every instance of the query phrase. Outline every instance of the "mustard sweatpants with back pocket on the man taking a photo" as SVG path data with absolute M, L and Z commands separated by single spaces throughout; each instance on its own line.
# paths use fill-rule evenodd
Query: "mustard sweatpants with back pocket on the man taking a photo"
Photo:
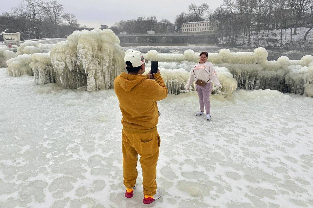
M 146 130 L 122 130 L 123 177 L 126 188 L 136 184 L 137 159 L 140 155 L 142 168 L 143 194 L 152 196 L 156 193 L 156 163 L 159 157 L 160 136 L 156 128 L 147 133 Z

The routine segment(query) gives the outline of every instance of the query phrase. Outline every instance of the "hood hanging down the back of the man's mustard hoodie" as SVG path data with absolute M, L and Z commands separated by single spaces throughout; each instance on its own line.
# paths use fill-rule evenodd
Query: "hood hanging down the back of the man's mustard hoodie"
M 145 75 L 129 75 L 124 72 L 122 72 L 122 74 L 118 77 L 118 83 L 126 92 L 133 89 L 143 80 L 146 80 Z

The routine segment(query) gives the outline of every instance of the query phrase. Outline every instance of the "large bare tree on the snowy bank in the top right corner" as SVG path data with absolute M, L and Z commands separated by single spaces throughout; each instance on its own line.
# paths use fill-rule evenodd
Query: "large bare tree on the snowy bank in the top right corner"
M 303 12 L 306 12 L 312 8 L 313 0 L 286 0 L 286 2 L 289 7 L 295 10 L 296 20 L 294 35 L 297 35 L 297 27 L 301 19 L 301 15 Z

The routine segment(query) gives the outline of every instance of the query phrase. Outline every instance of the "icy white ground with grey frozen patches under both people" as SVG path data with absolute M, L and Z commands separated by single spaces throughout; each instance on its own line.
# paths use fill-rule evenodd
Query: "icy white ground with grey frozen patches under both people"
M 113 90 L 39 86 L 0 68 L 0 207 L 313 206 L 313 99 L 274 90 L 196 93 L 158 102 L 162 197 L 124 197 L 121 113 Z

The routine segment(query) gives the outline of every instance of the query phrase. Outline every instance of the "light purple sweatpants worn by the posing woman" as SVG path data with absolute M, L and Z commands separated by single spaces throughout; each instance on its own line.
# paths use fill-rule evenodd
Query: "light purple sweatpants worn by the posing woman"
M 210 95 L 212 92 L 212 82 L 208 82 L 204 87 L 201 87 L 196 84 L 196 90 L 199 96 L 200 110 L 204 112 L 205 107 L 205 112 L 207 114 L 210 114 L 211 110 Z

